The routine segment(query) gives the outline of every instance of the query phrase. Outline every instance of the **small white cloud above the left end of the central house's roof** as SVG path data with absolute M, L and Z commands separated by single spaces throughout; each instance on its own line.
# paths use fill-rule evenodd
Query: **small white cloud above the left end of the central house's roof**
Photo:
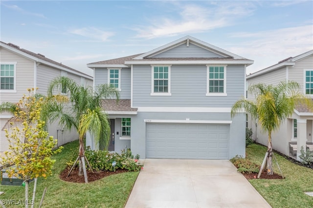
M 106 42 L 115 33 L 110 31 L 103 31 L 95 27 L 83 27 L 67 31 L 70 34 L 83 36 L 89 38 L 87 42 Z

